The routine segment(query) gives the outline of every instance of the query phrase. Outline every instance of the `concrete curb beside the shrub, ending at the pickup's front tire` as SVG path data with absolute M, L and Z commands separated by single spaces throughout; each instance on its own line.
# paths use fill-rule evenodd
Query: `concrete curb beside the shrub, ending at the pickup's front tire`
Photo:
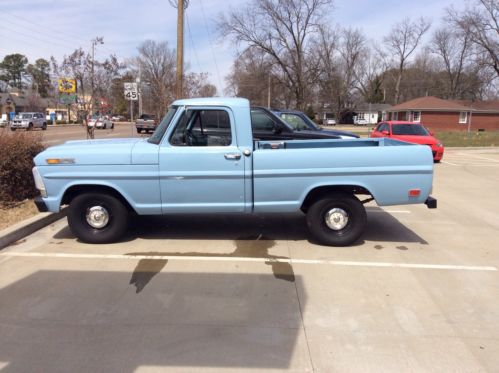
M 66 209 L 56 213 L 42 212 L 0 231 L 0 250 L 65 216 Z

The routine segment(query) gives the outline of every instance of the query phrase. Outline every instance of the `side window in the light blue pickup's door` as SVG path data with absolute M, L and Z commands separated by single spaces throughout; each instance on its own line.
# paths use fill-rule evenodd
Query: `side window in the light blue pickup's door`
M 229 146 L 232 133 L 225 110 L 186 110 L 170 137 L 174 146 Z

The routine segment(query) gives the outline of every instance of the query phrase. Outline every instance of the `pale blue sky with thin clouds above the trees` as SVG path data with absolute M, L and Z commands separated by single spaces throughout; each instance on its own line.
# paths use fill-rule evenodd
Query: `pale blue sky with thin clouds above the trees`
M 229 8 L 239 9 L 250 0 L 190 0 L 186 11 L 184 61 L 189 72 L 208 72 L 209 80 L 223 94 L 225 76 L 242 47 L 216 30 L 216 20 Z M 405 17 L 441 24 L 445 9 L 464 8 L 468 0 L 336 0 L 327 19 L 331 26 L 354 27 L 381 42 L 390 28 Z M 29 62 L 64 55 L 91 40 L 104 37 L 96 59 L 116 54 L 120 60 L 137 55 L 147 40 L 166 40 L 176 48 L 177 10 L 169 0 L 0 0 L 0 59 L 21 53 Z

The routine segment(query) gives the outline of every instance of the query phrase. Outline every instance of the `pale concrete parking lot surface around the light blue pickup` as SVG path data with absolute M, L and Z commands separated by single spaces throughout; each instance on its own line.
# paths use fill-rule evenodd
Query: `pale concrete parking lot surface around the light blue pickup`
M 347 248 L 301 216 L 60 220 L 0 251 L 5 372 L 495 372 L 499 148 L 446 149 L 425 206 L 368 207 Z

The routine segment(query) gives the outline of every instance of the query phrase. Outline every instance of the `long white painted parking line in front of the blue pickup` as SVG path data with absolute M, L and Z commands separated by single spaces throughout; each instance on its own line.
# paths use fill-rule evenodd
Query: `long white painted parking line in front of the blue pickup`
M 224 255 L 224 254 L 220 254 Z M 124 260 L 178 260 L 178 261 L 211 261 L 211 262 L 277 262 L 289 264 L 325 264 L 334 266 L 353 267 L 385 267 L 385 268 L 410 268 L 410 269 L 445 269 L 464 271 L 497 271 L 492 266 L 463 266 L 449 264 L 419 264 L 419 263 L 388 263 L 388 262 L 357 262 L 343 260 L 322 259 L 285 259 L 285 258 L 246 258 L 232 256 L 176 256 L 176 255 L 124 255 L 124 254 L 66 254 L 66 253 L 37 253 L 37 252 L 5 252 L 0 254 L 5 257 L 32 257 L 32 258 L 54 258 L 54 259 L 124 259 Z

